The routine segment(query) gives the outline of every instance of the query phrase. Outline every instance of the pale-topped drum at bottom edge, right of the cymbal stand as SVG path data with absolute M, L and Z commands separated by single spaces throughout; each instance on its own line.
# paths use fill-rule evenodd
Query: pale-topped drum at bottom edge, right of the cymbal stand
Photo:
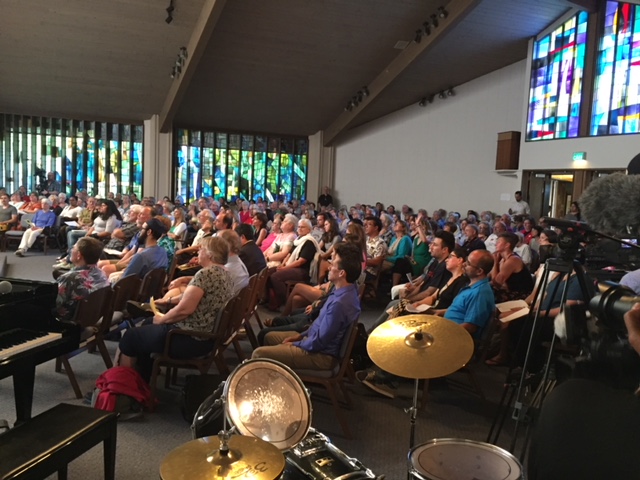
M 420 480 L 522 480 L 522 465 L 488 443 L 436 438 L 409 452 L 411 474 Z

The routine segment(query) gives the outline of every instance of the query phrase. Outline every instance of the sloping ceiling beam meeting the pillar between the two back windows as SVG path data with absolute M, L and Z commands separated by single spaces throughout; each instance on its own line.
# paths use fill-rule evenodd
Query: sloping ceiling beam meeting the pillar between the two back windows
M 178 112 L 182 97 L 189 87 L 189 82 L 191 82 L 198 63 L 207 48 L 211 34 L 218 23 L 218 19 L 226 3 L 227 0 L 205 0 L 204 2 L 202 12 L 198 17 L 198 21 L 193 28 L 193 33 L 187 44 L 189 58 L 187 58 L 182 67 L 182 74 L 171 83 L 169 93 L 160 111 L 160 131 L 162 133 L 171 132 L 173 118 Z M 178 50 L 176 49 L 176 56 L 177 55 Z M 169 65 L 167 65 L 167 68 L 168 67 Z

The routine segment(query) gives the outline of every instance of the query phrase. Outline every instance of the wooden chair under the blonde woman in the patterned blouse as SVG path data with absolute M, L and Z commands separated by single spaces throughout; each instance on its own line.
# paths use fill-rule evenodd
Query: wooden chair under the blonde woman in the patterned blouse
M 222 353 L 225 348 L 224 342 L 228 338 L 227 334 L 230 330 L 230 324 L 233 321 L 233 315 L 238 308 L 237 302 L 239 298 L 240 297 L 238 296 L 230 298 L 225 306 L 220 309 L 211 332 L 198 332 L 195 330 L 183 330 L 179 328 L 174 328 L 169 331 L 165 340 L 164 350 L 162 353 L 157 354 L 153 361 L 151 381 L 149 382 L 151 386 L 151 396 L 153 398 L 156 397 L 158 374 L 162 367 L 167 367 L 165 388 L 169 387 L 172 379 L 175 383 L 178 368 L 196 369 L 200 374 L 204 375 L 209 371 L 211 364 L 215 363 L 218 372 L 223 375 L 228 375 L 230 373 L 229 367 L 227 366 Z M 214 345 L 207 355 L 201 357 L 173 358 L 170 354 L 171 343 L 178 335 L 185 335 L 203 340 L 213 340 Z

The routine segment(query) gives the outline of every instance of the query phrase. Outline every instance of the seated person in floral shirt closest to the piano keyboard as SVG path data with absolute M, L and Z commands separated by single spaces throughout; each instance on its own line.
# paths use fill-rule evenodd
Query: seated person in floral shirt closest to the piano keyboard
M 100 288 L 108 287 L 109 280 L 96 263 L 102 253 L 102 242 L 84 237 L 71 249 L 73 269 L 56 279 L 56 317 L 61 321 L 71 321 L 78 302 Z

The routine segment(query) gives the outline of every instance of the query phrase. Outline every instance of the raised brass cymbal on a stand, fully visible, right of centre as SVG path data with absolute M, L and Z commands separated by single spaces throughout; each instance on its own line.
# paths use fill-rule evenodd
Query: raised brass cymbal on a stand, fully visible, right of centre
M 435 315 L 406 315 L 377 327 L 367 341 L 373 363 L 405 378 L 437 378 L 462 368 L 473 339 L 461 325 Z

